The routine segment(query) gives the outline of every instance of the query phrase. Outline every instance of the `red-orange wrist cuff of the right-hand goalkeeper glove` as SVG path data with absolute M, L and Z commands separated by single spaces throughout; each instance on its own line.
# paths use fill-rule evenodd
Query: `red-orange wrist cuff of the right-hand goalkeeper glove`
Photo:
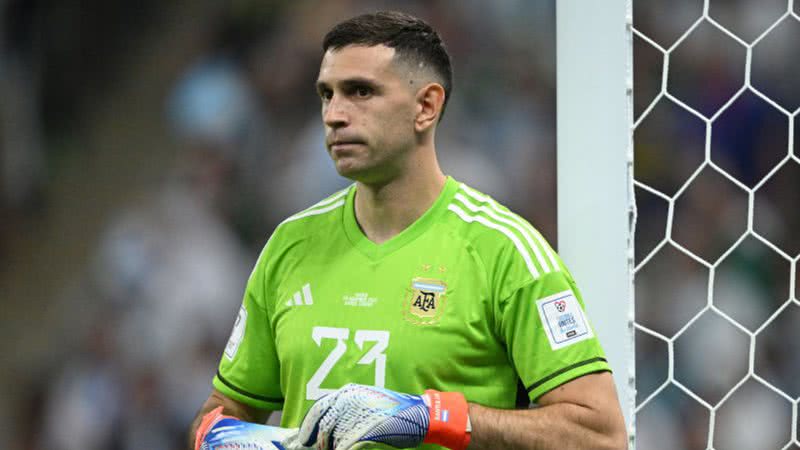
M 427 390 L 430 399 L 430 426 L 426 443 L 441 445 L 451 450 L 465 450 L 469 445 L 469 407 L 460 392 Z

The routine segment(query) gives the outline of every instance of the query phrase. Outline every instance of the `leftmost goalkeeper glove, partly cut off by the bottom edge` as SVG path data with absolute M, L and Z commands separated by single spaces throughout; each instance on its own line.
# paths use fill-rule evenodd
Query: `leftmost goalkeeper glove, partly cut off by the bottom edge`
M 297 450 L 297 429 L 270 427 L 243 422 L 222 414 L 222 406 L 200 422 L 195 434 L 195 450 L 251 448 L 254 450 Z

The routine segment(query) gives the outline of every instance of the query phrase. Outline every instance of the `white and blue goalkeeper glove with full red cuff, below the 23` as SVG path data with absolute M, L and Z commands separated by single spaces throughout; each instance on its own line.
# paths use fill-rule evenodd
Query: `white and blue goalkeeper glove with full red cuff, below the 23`
M 423 443 L 464 450 L 470 441 L 467 401 L 457 392 L 409 395 L 348 384 L 317 400 L 298 441 L 316 449 L 348 450 L 360 443 L 413 448 Z

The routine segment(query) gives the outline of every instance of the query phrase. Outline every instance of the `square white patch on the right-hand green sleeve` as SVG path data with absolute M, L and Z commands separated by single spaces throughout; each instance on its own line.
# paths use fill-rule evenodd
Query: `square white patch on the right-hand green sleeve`
M 536 302 L 542 327 L 553 350 L 594 337 L 581 304 L 572 290 Z

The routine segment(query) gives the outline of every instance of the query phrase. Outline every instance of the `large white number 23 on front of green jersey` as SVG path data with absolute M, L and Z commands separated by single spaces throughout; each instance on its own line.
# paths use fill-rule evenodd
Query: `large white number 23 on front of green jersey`
M 311 330 L 311 337 L 317 346 L 322 345 L 322 339 L 336 339 L 336 347 L 328 354 L 322 365 L 319 366 L 314 375 L 306 384 L 306 399 L 317 400 L 320 397 L 330 394 L 335 389 L 321 388 L 325 377 L 333 369 L 333 366 L 341 359 L 347 344 L 345 341 L 350 337 L 350 330 L 347 328 L 314 327 Z M 356 330 L 354 337 L 359 349 L 364 349 L 365 342 L 375 342 L 375 345 L 358 361 L 358 364 L 375 363 L 375 386 L 384 387 L 386 381 L 386 348 L 389 346 L 389 332 L 378 330 Z

